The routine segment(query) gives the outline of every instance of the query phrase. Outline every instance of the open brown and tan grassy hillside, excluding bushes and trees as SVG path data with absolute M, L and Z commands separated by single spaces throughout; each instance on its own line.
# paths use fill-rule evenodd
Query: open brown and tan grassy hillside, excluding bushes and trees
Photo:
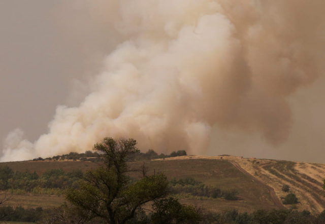
M 233 156 L 181 156 L 166 159 L 144 161 L 148 174 L 164 172 L 169 179 L 191 177 L 206 185 L 217 186 L 221 190 L 238 191 L 239 200 L 223 198 L 178 196 L 184 203 L 201 206 L 213 211 L 236 208 L 239 211 L 264 209 L 281 209 L 281 197 L 287 193 L 281 190 L 283 184 L 290 186 L 290 192 L 297 195 L 299 210 L 320 212 L 325 209 L 322 178 L 325 177 L 325 165 L 312 163 L 296 163 L 267 159 L 247 159 Z M 129 163 L 131 167 L 139 167 L 143 162 Z M 87 161 L 24 161 L 1 163 L 13 170 L 36 171 L 43 173 L 49 169 L 83 171 L 98 166 L 98 163 Z M 134 173 L 132 177 L 140 174 Z M 53 207 L 63 202 L 63 196 L 46 195 L 13 195 L 11 205 L 24 207 Z

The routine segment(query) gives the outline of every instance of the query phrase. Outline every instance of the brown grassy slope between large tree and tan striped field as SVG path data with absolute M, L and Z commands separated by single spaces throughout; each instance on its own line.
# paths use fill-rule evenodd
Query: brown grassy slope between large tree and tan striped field
M 242 172 L 228 160 L 187 160 L 183 157 L 146 162 L 149 173 L 163 172 L 168 178 L 192 177 L 206 185 L 213 185 L 221 190 L 235 189 L 239 192 L 240 200 L 228 201 L 224 199 L 183 199 L 181 201 L 198 205 L 207 209 L 220 211 L 236 208 L 239 211 L 253 211 L 256 209 L 283 208 L 277 198 L 272 198 L 270 189 L 253 176 Z M 133 163 L 140 166 L 141 163 Z

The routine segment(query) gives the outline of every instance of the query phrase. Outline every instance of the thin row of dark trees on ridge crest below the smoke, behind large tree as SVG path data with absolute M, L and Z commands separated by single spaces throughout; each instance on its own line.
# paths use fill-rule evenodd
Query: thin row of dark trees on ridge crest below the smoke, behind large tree
M 186 151 L 185 150 L 179 150 L 179 151 L 174 151 L 170 155 L 165 155 L 163 153 L 157 154 L 153 150 L 148 150 L 146 153 L 136 153 L 133 154 L 131 157 L 128 158 L 129 162 L 136 162 L 136 161 L 145 161 L 145 160 L 153 160 L 153 159 L 165 159 L 165 158 L 170 158 L 170 157 L 178 157 L 178 156 L 186 156 Z M 92 151 L 86 151 L 85 153 L 74 153 L 71 152 L 69 154 L 63 154 L 60 156 L 53 156 L 53 157 L 48 157 L 48 158 L 36 158 L 33 159 L 33 161 L 43 161 L 43 160 L 81 160 L 81 161 L 90 161 L 90 162 L 102 162 L 103 158 L 100 154 Z

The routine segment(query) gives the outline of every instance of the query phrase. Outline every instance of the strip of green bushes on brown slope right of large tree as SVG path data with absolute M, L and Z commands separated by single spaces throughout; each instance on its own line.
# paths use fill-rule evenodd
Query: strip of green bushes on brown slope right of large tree
M 237 190 L 220 190 L 215 186 L 208 186 L 193 178 L 172 179 L 170 181 L 172 194 L 188 194 L 191 196 L 207 198 L 224 198 L 225 200 L 238 200 Z

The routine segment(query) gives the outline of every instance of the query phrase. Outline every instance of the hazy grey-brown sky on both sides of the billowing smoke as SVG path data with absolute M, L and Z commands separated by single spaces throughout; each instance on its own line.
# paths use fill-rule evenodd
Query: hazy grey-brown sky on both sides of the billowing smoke
M 31 141 L 46 133 L 56 106 L 78 105 L 88 92 L 83 85 L 102 70 L 104 56 L 121 42 L 110 27 L 107 1 L 67 2 L 0 1 L 3 141 L 15 128 Z M 319 77 L 287 98 L 293 124 L 284 143 L 269 145 L 256 133 L 214 127 L 206 154 L 325 162 L 324 89 L 325 80 Z

